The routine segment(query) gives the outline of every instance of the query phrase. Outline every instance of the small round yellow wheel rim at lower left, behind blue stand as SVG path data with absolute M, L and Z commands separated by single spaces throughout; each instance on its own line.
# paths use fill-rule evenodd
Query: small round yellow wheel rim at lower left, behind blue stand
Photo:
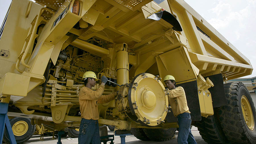
M 16 136 L 24 135 L 28 131 L 28 123 L 20 120 L 12 126 L 13 134 Z

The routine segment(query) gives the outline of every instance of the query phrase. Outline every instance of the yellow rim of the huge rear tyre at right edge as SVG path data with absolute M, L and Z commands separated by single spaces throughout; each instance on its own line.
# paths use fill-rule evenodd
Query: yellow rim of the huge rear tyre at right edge
M 245 123 L 250 130 L 253 130 L 254 129 L 253 112 L 251 110 L 251 105 L 248 99 L 245 97 L 245 95 L 242 95 L 241 97 L 241 106 L 242 106 L 243 118 L 245 120 Z

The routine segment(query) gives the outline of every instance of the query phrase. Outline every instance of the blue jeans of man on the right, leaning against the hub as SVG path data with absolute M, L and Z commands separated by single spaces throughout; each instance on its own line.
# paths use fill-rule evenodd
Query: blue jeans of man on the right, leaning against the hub
M 178 124 L 179 124 L 178 144 L 181 144 L 181 143 L 196 144 L 197 142 L 195 141 L 190 130 L 190 125 L 191 125 L 190 114 L 188 112 L 184 112 L 183 114 L 179 114 L 177 118 L 178 118 Z

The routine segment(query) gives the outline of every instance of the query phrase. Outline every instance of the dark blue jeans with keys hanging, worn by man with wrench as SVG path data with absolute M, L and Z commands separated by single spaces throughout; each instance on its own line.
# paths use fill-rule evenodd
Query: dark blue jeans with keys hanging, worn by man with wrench
M 98 120 L 82 118 L 78 135 L 79 144 L 100 144 L 100 131 Z

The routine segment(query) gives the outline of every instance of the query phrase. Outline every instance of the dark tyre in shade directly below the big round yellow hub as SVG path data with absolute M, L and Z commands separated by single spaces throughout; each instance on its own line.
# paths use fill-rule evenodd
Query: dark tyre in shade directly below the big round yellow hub
M 168 141 L 175 135 L 176 128 L 164 129 L 143 129 L 146 136 L 153 141 Z

